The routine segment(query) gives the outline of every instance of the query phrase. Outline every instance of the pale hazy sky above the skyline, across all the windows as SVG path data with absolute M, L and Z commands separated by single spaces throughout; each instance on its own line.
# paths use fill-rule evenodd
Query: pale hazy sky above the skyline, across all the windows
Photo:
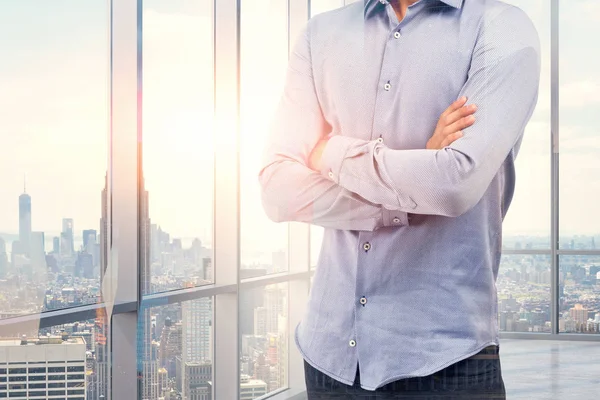
M 466 0 L 469 1 L 469 0 Z M 506 234 L 550 229 L 550 2 L 511 0 L 542 41 L 537 109 L 517 158 Z M 210 0 L 144 1 L 144 176 L 150 216 L 175 237 L 212 230 Z M 568 4 L 567 4 L 568 3 Z M 342 0 L 313 0 L 313 13 Z M 600 2 L 561 2 L 561 232 L 600 231 Z M 264 216 L 256 173 L 287 64 L 285 0 L 242 1 L 242 254 L 285 248 L 287 228 Z M 33 230 L 98 229 L 108 160 L 106 0 L 0 0 L 0 232 L 18 231 L 18 196 Z M 135 156 L 132 154 L 132 157 Z M 316 235 L 318 240 L 318 235 Z M 316 245 L 316 244 L 315 244 Z

